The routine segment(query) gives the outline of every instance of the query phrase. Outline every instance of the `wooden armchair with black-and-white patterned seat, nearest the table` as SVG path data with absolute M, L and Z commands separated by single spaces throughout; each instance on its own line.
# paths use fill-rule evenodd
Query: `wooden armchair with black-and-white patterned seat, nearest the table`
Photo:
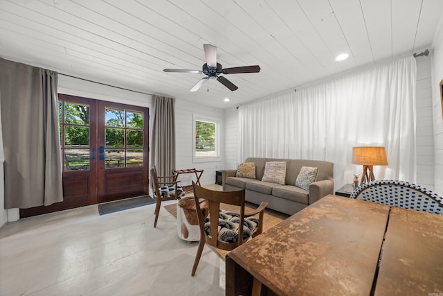
M 261 234 L 264 209 L 268 203 L 262 202 L 254 211 L 245 213 L 244 189 L 237 191 L 214 191 L 201 187 L 195 184 L 195 182 L 192 182 L 192 187 L 194 189 L 197 218 L 200 227 L 200 242 L 194 266 L 192 267 L 192 276 L 194 276 L 205 243 L 221 250 L 233 250 L 249 238 Z M 200 201 L 202 199 L 206 200 L 209 213 L 201 209 Z M 220 209 L 221 203 L 238 206 L 239 213 Z M 258 216 L 258 218 L 255 216 Z

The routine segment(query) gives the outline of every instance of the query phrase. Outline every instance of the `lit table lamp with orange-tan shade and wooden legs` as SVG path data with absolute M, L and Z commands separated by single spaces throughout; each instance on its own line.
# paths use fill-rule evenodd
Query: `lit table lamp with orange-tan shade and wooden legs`
M 382 146 L 366 146 L 352 148 L 352 163 L 363 165 L 361 184 L 375 180 L 372 166 L 386 166 L 386 150 Z

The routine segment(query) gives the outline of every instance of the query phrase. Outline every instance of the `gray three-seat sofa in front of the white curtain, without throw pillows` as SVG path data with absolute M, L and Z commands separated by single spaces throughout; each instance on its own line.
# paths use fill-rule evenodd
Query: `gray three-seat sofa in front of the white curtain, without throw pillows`
M 261 157 L 249 157 L 244 162 L 255 163 L 255 179 L 235 177 L 237 170 L 224 170 L 221 171 L 221 180 L 225 191 L 246 189 L 248 202 L 254 204 L 268 202 L 268 208 L 292 215 L 325 195 L 334 194 L 334 164 L 332 162 Z M 284 185 L 261 181 L 266 162 L 287 162 Z M 302 166 L 318 168 L 316 182 L 309 186 L 309 191 L 295 186 Z

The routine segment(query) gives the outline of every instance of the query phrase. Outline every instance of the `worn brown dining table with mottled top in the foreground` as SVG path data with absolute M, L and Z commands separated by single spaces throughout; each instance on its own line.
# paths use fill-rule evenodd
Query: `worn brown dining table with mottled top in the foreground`
M 229 252 L 226 295 L 440 296 L 442 251 L 443 216 L 327 195 Z

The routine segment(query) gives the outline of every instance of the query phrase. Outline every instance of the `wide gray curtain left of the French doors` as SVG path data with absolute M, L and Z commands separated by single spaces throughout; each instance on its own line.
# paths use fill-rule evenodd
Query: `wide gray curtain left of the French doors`
M 63 200 L 57 73 L 0 58 L 5 208 Z

